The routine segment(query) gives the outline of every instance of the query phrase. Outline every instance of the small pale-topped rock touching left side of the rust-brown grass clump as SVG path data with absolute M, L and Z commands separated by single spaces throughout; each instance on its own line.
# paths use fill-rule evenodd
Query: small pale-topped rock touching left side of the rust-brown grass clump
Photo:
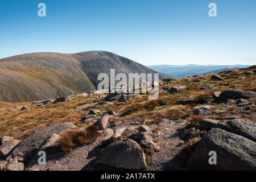
M 47 154 L 54 153 L 56 151 L 56 148 L 58 147 L 58 142 L 61 139 L 60 135 L 58 134 L 52 134 L 50 137 L 48 137 L 39 147 L 39 151 L 45 151 Z

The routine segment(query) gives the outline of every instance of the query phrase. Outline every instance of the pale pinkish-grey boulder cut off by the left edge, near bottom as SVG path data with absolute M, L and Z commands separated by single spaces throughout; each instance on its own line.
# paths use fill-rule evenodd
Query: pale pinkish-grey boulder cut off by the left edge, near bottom
M 19 142 L 20 140 L 16 140 L 13 137 L 2 137 L 0 146 L 0 158 L 3 158 L 9 154 L 10 151 L 19 144 Z

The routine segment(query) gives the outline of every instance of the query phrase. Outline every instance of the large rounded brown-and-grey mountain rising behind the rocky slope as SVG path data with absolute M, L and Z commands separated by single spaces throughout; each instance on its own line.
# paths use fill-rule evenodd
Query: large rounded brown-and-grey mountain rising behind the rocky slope
M 27 102 L 89 92 L 99 73 L 157 73 L 105 51 L 27 53 L 0 59 L 0 101 Z M 162 74 L 159 79 L 166 78 Z

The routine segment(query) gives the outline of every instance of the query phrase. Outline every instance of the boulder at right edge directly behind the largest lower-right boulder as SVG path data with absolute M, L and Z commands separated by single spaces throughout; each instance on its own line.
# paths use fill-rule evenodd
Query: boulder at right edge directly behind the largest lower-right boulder
M 241 135 L 256 142 L 256 123 L 246 119 L 230 119 L 218 122 L 217 127 Z

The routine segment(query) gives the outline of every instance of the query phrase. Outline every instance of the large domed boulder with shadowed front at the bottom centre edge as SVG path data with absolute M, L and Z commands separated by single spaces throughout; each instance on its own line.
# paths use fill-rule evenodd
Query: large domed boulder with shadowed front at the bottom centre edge
M 123 169 L 145 169 L 146 158 L 138 143 L 133 140 L 110 144 L 97 159 L 96 164 L 105 164 Z

